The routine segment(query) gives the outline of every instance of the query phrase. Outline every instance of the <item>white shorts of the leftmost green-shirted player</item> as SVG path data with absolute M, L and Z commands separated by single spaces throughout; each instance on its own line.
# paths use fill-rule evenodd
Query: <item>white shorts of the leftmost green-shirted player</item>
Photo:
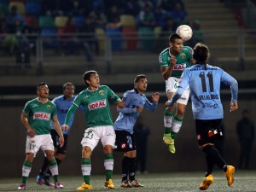
M 54 151 L 55 147 L 50 134 L 38 135 L 35 137 L 26 137 L 26 154 L 32 153 L 34 156 L 38 153 L 39 148 Z

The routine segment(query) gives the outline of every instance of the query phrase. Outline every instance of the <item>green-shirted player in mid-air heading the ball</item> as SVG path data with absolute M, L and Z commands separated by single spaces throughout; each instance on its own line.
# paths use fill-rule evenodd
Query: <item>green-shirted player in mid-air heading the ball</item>
M 177 90 L 178 79 L 183 73 L 183 69 L 190 67 L 193 63 L 192 49 L 183 46 L 183 39 L 176 33 L 169 37 L 169 46 L 164 49 L 159 56 L 160 70 L 163 78 L 166 80 L 166 94 L 168 100 L 172 98 Z M 183 92 L 183 95 L 177 100 L 177 104 L 172 108 L 167 107 L 164 113 L 164 143 L 168 145 L 169 151 L 174 154 L 174 138 L 177 136 L 183 123 L 183 116 L 189 100 L 189 87 Z

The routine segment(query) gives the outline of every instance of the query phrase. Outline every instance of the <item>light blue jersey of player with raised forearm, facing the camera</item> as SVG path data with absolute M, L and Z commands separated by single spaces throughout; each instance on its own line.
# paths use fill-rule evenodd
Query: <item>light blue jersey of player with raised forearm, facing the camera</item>
M 137 90 L 126 91 L 123 100 L 125 108 L 119 108 L 119 116 L 114 122 L 113 127 L 114 130 L 129 131 L 132 134 L 133 126 L 140 115 L 140 113 L 137 113 L 137 107 L 146 108 L 154 112 L 155 108 L 157 108 L 157 103 L 149 102 L 147 97 L 144 94 L 141 95 Z

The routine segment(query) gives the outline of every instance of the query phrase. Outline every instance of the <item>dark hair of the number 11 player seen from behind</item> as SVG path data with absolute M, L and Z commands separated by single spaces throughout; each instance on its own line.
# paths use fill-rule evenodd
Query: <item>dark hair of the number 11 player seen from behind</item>
M 196 64 L 204 64 L 206 68 L 209 57 L 210 51 L 206 44 L 195 44 L 193 58 L 195 59 Z

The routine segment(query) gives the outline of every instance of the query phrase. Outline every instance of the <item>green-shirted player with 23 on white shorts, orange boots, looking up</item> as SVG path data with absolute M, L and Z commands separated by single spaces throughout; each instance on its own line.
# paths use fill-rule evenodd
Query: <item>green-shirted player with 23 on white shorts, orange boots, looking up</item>
M 68 128 L 68 123 L 72 119 L 73 113 L 80 105 L 84 106 L 84 116 L 87 121 L 87 128 L 84 131 L 82 139 L 82 173 L 84 183 L 78 190 L 91 189 L 90 156 L 97 143 L 101 140 L 104 150 L 104 166 L 106 170 L 105 187 L 114 189 L 113 175 L 113 145 L 115 142 L 115 133 L 113 130 L 112 115 L 110 113 L 109 102 L 111 100 L 119 108 L 124 108 L 125 104 L 119 96 L 115 95 L 113 90 L 107 85 L 100 85 L 100 78 L 96 71 L 87 71 L 83 75 L 84 83 L 87 89 L 81 91 L 69 108 L 63 128 Z

